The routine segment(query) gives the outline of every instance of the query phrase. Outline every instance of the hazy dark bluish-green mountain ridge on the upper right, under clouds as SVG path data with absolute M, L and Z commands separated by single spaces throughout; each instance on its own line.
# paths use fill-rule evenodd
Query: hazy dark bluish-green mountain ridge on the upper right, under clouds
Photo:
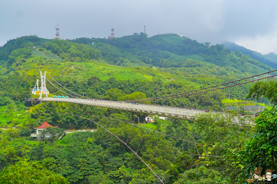
M 101 51 L 103 59 L 110 63 L 118 62 L 119 65 L 137 66 L 146 64 L 157 67 L 209 67 L 212 64 L 238 69 L 242 72 L 255 72 L 253 65 L 265 70 L 270 67 L 243 56 L 242 53 L 232 53 L 224 49 L 223 45 L 201 44 L 187 37 L 180 38 L 176 34 L 156 35 L 147 38 L 143 33 L 123 36 L 116 39 L 88 39 L 72 40 L 75 43 L 92 45 Z M 194 61 L 191 63 L 191 60 Z M 250 63 L 250 64 L 249 64 Z M 260 69 L 259 68 L 259 69 Z

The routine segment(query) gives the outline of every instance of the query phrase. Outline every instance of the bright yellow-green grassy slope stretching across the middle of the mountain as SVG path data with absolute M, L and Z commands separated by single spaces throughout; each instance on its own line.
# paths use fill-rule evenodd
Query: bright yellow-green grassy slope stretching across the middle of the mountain
M 158 68 L 143 68 L 143 67 L 117 67 L 109 64 L 98 62 L 64 62 L 51 61 L 47 64 L 34 62 L 35 59 L 30 59 L 28 63 L 24 63 L 18 67 L 19 73 L 27 75 L 37 75 L 39 78 L 39 70 L 47 70 L 54 78 L 78 79 L 86 82 L 88 78 L 95 75 L 106 81 L 111 77 L 118 80 L 152 80 L 160 78 L 167 82 L 169 79 L 175 79 L 176 82 L 181 82 L 186 85 L 195 87 L 203 87 L 211 84 L 219 84 L 223 80 L 230 81 L 235 79 L 234 76 L 216 76 L 211 73 L 210 68 L 180 68 L 180 71 L 163 71 Z M 204 77 L 205 76 L 205 77 Z M 244 74 L 243 74 L 244 76 Z M 33 81 L 35 82 L 35 81 Z M 32 84 L 34 85 L 34 84 Z

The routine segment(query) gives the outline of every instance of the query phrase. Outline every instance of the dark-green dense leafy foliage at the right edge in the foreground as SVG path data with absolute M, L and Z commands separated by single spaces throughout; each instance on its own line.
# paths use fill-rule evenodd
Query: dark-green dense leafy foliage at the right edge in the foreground
M 256 119 L 255 133 L 239 153 L 246 170 L 245 176 L 255 167 L 277 169 L 277 105 L 264 110 Z

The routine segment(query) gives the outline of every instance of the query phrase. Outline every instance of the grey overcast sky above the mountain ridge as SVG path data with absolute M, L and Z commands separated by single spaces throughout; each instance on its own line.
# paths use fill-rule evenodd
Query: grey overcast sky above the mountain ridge
M 223 40 L 277 53 L 277 2 L 243 0 L 0 0 L 0 45 L 24 35 L 108 37 L 144 31 L 181 34 L 201 43 Z

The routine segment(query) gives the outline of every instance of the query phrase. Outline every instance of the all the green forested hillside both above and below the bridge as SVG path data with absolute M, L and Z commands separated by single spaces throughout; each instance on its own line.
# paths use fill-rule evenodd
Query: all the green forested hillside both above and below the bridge
M 203 129 L 204 120 L 200 117 L 196 123 L 155 119 L 153 124 L 142 125 L 189 140 L 190 143 L 187 143 L 122 122 L 138 125 L 136 117 L 142 123 L 145 114 L 57 102 L 27 107 L 24 99 L 37 97 L 31 95 L 31 90 L 36 79 L 40 79 L 39 70 L 47 70 L 62 86 L 77 94 L 125 101 L 195 90 L 271 71 L 273 68 L 249 55 L 232 52 L 223 45 L 201 44 L 175 34 L 148 38 L 143 33 L 134 33 L 114 39 L 74 40 L 22 36 L 10 40 L 0 48 L 0 125 L 17 128 L 0 129 L 1 181 L 18 171 L 26 173 L 28 177 L 44 172 L 60 183 L 161 183 L 132 151 L 93 121 L 109 128 L 132 149 L 137 150 L 138 155 L 165 183 L 182 183 L 187 180 L 186 173 L 191 171 L 204 174 L 201 176 L 202 183 L 209 181 L 206 180 L 207 173 L 212 173 L 213 181 L 221 183 L 235 181 L 235 174 L 241 174 L 241 167 L 232 166 L 231 160 L 237 157 L 235 154 L 238 151 L 243 151 L 245 143 L 253 135 L 252 130 L 242 132 L 236 125 L 232 125 L 233 129 L 229 130 L 230 122 L 222 117 L 216 121 L 206 121 L 207 129 Z M 46 86 L 51 95 L 65 95 L 49 82 Z M 246 99 L 249 86 L 251 84 L 233 87 L 231 91 L 215 90 L 148 103 L 221 110 L 225 107 L 221 101 L 229 92 L 231 98 Z M 39 143 L 30 134 L 35 131 L 33 127 L 44 121 L 62 129 L 94 128 L 98 131 L 68 134 L 54 144 L 47 143 L 47 140 L 46 143 Z M 211 139 L 214 135 L 218 136 L 216 140 Z M 240 138 L 235 142 L 237 137 Z M 226 144 L 218 144 L 221 142 L 219 140 Z M 194 143 L 201 145 L 196 146 Z M 236 151 L 230 153 L 227 145 Z M 212 148 L 215 147 L 219 153 L 213 152 Z M 217 161 L 213 156 L 204 159 L 204 155 L 209 154 L 215 158 L 225 155 L 227 161 Z M 199 159 L 200 155 L 203 159 Z M 198 161 L 200 165 L 195 167 Z M 219 174 L 228 172 L 225 167 L 221 167 L 223 164 L 234 167 L 231 171 L 233 176 Z M 21 170 L 18 170 L 21 165 Z M 214 168 L 222 168 L 222 171 Z M 34 173 L 26 172 L 30 169 Z M 21 176 L 18 175 L 19 178 Z M 47 181 L 51 183 L 51 179 L 47 178 Z M 41 181 L 38 178 L 37 183 Z

